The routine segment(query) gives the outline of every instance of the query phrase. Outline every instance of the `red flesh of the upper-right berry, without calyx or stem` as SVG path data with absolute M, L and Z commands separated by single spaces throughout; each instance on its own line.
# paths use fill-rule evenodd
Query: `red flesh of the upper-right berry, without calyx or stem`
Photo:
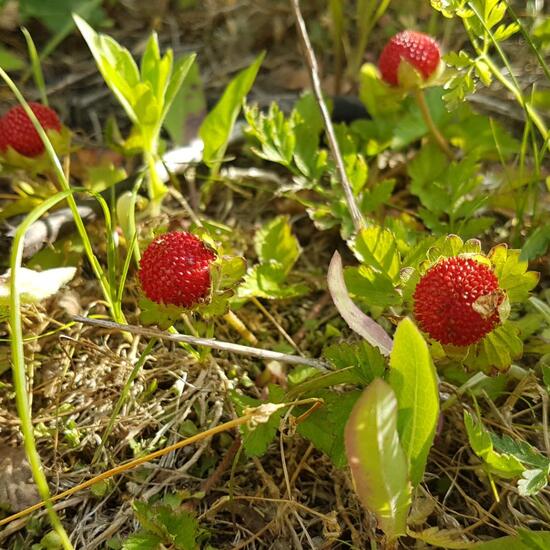
M 403 31 L 390 38 L 380 54 L 378 67 L 382 78 L 392 86 L 399 85 L 398 69 L 402 59 L 426 80 L 437 69 L 441 52 L 437 42 L 421 32 Z

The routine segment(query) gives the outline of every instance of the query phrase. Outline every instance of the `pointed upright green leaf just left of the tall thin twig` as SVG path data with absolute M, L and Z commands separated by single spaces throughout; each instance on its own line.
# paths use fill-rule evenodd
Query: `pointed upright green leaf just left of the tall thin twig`
M 203 159 L 206 164 L 219 165 L 222 162 L 242 102 L 252 88 L 264 55 L 260 54 L 250 67 L 229 83 L 221 99 L 204 119 L 199 136 L 204 142 Z

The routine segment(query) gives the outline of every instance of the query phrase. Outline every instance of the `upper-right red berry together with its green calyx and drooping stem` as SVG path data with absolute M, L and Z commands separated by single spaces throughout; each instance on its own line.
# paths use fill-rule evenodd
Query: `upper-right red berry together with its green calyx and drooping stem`
M 454 154 L 435 125 L 422 88 L 429 85 L 439 73 L 441 52 L 438 43 L 427 34 L 403 31 L 386 44 L 378 68 L 382 78 L 390 86 L 414 92 L 416 102 L 428 130 L 438 146 L 452 160 Z

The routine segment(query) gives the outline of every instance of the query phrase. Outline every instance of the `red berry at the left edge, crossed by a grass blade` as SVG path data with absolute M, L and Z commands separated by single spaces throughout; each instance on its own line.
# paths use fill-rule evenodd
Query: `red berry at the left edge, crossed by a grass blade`
M 61 121 L 53 109 L 40 103 L 29 103 L 29 106 L 44 130 L 61 131 Z M 44 144 L 21 105 L 12 107 L 2 121 L 5 142 L 18 153 L 37 157 L 44 152 Z

